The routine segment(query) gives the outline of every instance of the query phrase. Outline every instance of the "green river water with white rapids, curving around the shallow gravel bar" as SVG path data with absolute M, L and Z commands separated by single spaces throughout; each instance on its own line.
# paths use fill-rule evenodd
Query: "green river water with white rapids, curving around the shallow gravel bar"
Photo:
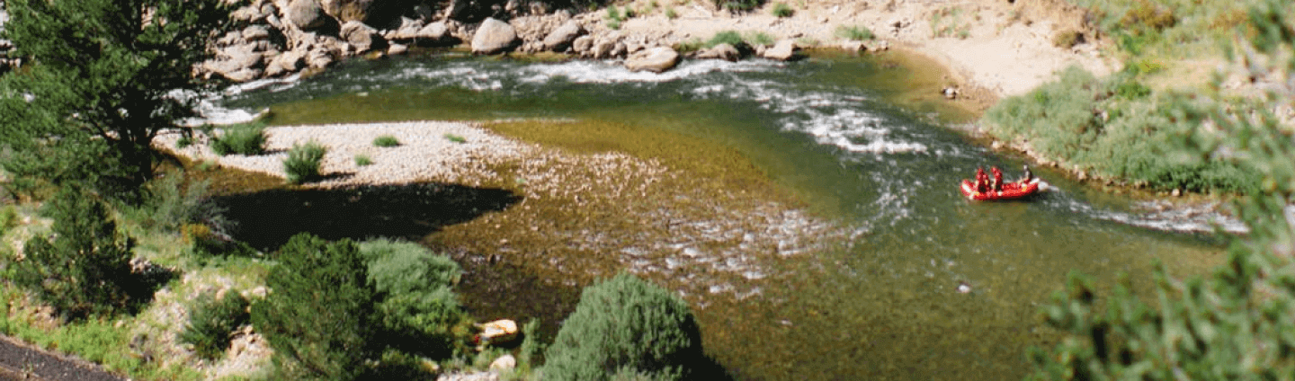
M 953 128 L 973 115 L 939 100 L 940 84 L 899 53 L 688 61 L 664 74 L 440 54 L 347 62 L 236 87 L 220 102 L 268 108 L 275 124 L 609 121 L 741 152 L 807 213 L 851 233 L 746 270 L 741 283 L 681 286 L 707 352 L 738 380 L 1020 378 L 1026 349 L 1057 338 L 1037 310 L 1067 272 L 1103 285 L 1128 273 L 1146 286 L 1158 260 L 1173 275 L 1219 260 L 1219 238 L 1181 232 L 1210 229 L 1208 215 L 1142 213 L 1145 202 L 1048 168 L 1035 174 L 1052 190 L 1031 202 L 967 202 L 960 179 L 978 166 L 1015 178 L 1023 162 Z M 707 270 L 689 272 L 648 277 L 677 285 Z

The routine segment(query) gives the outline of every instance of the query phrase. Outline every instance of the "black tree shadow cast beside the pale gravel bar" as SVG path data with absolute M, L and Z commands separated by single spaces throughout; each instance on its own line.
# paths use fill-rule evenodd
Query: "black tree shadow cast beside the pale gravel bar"
M 445 225 L 508 209 L 522 197 L 506 189 L 457 184 L 268 189 L 218 196 L 233 237 L 263 251 L 310 232 L 325 240 L 370 237 L 420 241 Z

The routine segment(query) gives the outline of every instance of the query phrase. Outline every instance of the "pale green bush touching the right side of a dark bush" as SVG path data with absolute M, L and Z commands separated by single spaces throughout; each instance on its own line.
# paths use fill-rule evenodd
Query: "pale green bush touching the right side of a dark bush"
M 462 350 L 470 320 L 452 289 L 462 275 L 458 263 L 413 242 L 370 240 L 360 250 L 386 345 L 431 358 Z

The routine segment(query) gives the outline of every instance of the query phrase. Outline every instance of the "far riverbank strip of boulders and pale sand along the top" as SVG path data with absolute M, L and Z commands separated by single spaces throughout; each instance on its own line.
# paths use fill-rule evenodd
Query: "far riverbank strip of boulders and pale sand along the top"
M 773 9 L 782 6 L 777 16 Z M 894 0 L 768 1 L 729 12 L 710 1 L 636 0 L 572 12 L 546 3 L 256 0 L 233 13 L 216 58 L 199 75 L 247 82 L 316 71 L 347 57 L 401 54 L 411 48 L 464 47 L 477 54 L 553 52 L 620 60 L 632 70 L 670 70 L 682 58 L 793 60 L 800 48 L 914 49 L 951 69 L 948 96 L 983 109 L 1079 65 L 1111 70 L 1084 12 L 1059 0 L 949 3 Z M 870 31 L 874 39 L 859 38 Z M 758 40 L 750 49 L 692 51 L 720 31 Z M 851 34 L 855 31 L 856 34 Z M 1059 36 L 1068 35 L 1072 39 Z

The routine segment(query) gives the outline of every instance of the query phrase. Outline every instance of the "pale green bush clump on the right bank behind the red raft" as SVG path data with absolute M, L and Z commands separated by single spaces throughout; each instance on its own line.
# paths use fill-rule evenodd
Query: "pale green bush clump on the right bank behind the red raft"
M 1072 67 L 1058 82 L 1002 100 L 983 121 L 991 136 L 1028 141 L 1044 157 L 1092 175 L 1163 190 L 1254 189 L 1254 171 L 1244 165 L 1167 152 L 1195 126 L 1164 106 L 1172 101 L 1132 74 L 1101 80 Z

